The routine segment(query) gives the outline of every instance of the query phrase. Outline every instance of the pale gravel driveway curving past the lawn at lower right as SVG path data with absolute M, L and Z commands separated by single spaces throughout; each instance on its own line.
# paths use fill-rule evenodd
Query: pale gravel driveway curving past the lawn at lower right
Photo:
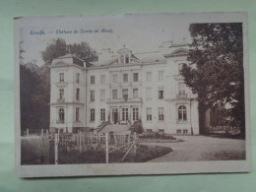
M 184 142 L 147 143 L 145 145 L 169 147 L 172 153 L 149 162 L 197 161 L 197 160 L 244 160 L 245 141 L 206 136 L 175 136 Z

